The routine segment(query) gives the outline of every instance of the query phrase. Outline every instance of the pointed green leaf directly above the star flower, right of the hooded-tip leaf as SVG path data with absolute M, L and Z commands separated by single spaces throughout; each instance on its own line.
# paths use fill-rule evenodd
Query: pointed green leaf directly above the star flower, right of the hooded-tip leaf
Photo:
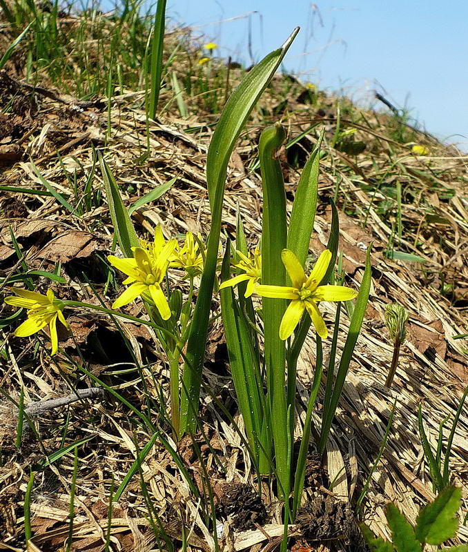
M 302 170 L 294 197 L 291 221 L 289 222 L 288 249 L 291 249 L 298 257 L 302 266 L 304 266 L 307 253 L 309 253 L 309 242 L 313 232 L 313 222 L 315 221 L 320 146 L 323 136 L 324 130 Z

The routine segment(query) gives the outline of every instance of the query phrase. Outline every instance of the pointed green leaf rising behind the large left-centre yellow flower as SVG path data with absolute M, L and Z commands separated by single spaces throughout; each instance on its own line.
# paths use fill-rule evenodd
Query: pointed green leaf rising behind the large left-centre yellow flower
M 117 186 L 112 172 L 110 172 L 108 164 L 104 160 L 104 157 L 102 157 L 101 152 L 98 151 L 97 155 L 99 157 L 102 178 L 104 180 L 104 188 L 106 188 L 110 218 L 113 221 L 119 246 L 126 257 L 133 257 L 132 247 L 139 246 L 137 233 L 135 232 L 135 228 L 133 228 L 130 215 L 128 215 L 128 211 L 124 206 L 119 187 Z

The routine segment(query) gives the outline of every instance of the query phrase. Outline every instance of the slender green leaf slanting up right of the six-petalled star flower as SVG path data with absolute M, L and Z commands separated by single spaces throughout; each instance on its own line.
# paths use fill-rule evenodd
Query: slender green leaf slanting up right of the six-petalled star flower
M 338 373 L 335 379 L 335 385 L 333 386 L 333 393 L 331 395 L 330 403 L 324 404 L 324 414 L 322 419 L 322 431 L 320 433 L 320 454 L 323 454 L 326 448 L 326 440 L 328 439 L 333 417 L 335 416 L 338 402 L 340 401 L 340 395 L 343 389 L 344 380 L 351 363 L 351 357 L 356 342 L 358 341 L 362 321 L 364 320 L 364 314 L 366 312 L 367 301 L 369 300 L 369 291 L 371 289 L 371 246 L 367 248 L 366 255 L 366 268 L 364 275 L 362 276 L 362 283 L 356 298 L 356 303 L 349 324 L 349 332 L 346 342 L 344 343 L 343 353 L 340 359 L 340 366 L 338 366 Z

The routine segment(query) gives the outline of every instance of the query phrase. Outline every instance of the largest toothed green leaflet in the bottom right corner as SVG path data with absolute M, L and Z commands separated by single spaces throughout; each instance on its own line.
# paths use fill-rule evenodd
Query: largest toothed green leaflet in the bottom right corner
M 427 504 L 416 520 L 416 537 L 422 543 L 442 544 L 456 535 L 462 490 L 454 485 L 448 486 L 434 502 Z

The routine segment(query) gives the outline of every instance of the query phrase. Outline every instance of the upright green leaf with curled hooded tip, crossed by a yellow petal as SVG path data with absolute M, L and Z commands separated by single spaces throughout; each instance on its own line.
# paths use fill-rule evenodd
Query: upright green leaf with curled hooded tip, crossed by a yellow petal
M 281 124 L 267 127 L 260 135 L 260 168 L 263 189 L 262 227 L 262 284 L 284 286 L 286 269 L 281 261 L 281 252 L 287 244 L 286 193 L 280 161 L 276 152 L 282 146 L 286 132 Z M 266 387 L 269 393 L 271 412 L 275 420 L 268 420 L 273 430 L 276 471 L 280 494 L 289 495 L 291 470 L 287 462 L 289 441 L 288 405 L 285 392 L 286 344 L 280 339 L 280 324 L 285 299 L 263 297 L 264 351 L 266 366 Z

